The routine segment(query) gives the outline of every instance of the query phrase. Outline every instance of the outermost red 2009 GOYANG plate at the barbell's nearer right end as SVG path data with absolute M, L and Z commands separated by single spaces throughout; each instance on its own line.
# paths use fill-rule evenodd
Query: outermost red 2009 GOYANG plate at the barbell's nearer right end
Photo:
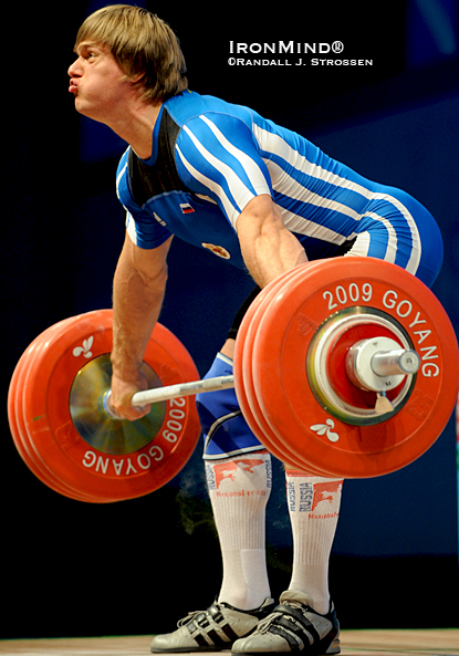
M 401 326 L 421 358 L 407 403 L 372 426 L 332 416 L 306 375 L 311 340 L 324 320 L 358 308 Z M 284 287 L 260 322 L 253 358 L 258 399 L 273 431 L 292 449 L 307 448 L 314 467 L 343 478 L 380 476 L 414 461 L 441 434 L 457 397 L 458 346 L 441 304 L 405 270 L 371 258 L 322 260 L 304 284 L 295 279 Z

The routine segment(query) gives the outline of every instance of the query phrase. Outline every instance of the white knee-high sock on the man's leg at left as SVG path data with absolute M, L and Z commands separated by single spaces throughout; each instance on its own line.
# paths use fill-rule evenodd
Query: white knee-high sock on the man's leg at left
M 223 560 L 218 601 L 258 608 L 271 596 L 265 558 L 271 456 L 263 450 L 206 460 L 206 478 Z

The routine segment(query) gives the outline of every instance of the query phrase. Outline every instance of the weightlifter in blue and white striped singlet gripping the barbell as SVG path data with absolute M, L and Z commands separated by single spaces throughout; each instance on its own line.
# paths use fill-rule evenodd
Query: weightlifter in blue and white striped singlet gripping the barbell
M 250 108 L 190 92 L 178 41 L 156 15 L 123 4 L 101 9 L 81 27 L 75 53 L 69 75 L 77 112 L 128 143 L 116 180 L 127 211 L 113 300 L 112 404 L 119 416 L 137 419 L 149 409 L 131 398 L 147 387 L 139 365 L 160 313 L 174 235 L 248 270 L 257 285 L 208 376 L 232 373 L 238 326 L 258 290 L 307 259 L 380 258 L 432 284 L 442 242 L 419 202 Z M 343 481 L 285 464 L 293 569 L 274 606 L 264 552 L 270 454 L 233 391 L 197 400 L 223 580 L 216 602 L 156 636 L 152 652 L 338 654 L 327 571 Z

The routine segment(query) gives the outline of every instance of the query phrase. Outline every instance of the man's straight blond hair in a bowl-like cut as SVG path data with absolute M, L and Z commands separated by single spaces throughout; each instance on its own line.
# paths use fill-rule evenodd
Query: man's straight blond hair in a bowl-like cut
M 75 50 L 83 41 L 109 48 L 121 70 L 147 101 L 164 102 L 188 87 L 177 37 L 146 9 L 111 4 L 95 11 L 80 28 Z

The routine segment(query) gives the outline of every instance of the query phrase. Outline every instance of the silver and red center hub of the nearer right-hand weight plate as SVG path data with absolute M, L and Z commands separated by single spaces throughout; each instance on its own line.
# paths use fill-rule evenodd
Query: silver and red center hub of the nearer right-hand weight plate
M 405 329 L 389 314 L 367 306 L 341 310 L 311 340 L 306 356 L 311 389 L 324 409 L 346 424 L 380 424 L 408 400 L 416 373 L 379 376 L 372 369 L 372 357 L 413 348 Z

